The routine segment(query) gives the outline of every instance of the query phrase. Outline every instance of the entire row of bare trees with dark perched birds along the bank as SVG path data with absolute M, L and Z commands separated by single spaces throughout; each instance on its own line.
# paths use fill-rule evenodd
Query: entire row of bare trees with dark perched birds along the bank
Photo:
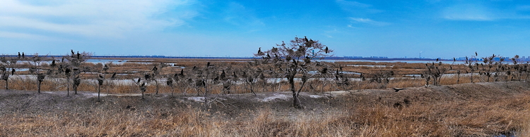
M 300 107 L 300 92 L 302 91 L 326 91 L 330 90 L 351 90 L 355 87 L 363 89 L 360 85 L 377 84 L 378 88 L 387 88 L 387 84 L 395 77 L 393 70 L 379 70 L 366 74 L 348 74 L 343 71 L 343 67 L 336 63 L 322 61 L 321 59 L 331 56 L 333 50 L 320 44 L 319 41 L 295 37 L 295 39 L 285 43 L 276 44 L 272 48 L 258 52 L 254 56 L 258 57 L 247 62 L 242 67 L 233 67 L 228 63 L 206 63 L 194 67 L 182 69 L 171 68 L 170 73 L 162 72 L 167 68 L 167 64 L 153 64 L 151 70 L 144 72 L 141 76 L 131 79 L 131 84 L 137 87 L 142 94 L 153 91 L 158 94 L 161 86 L 169 86 L 171 95 L 175 90 L 181 93 L 194 92 L 197 96 L 209 96 L 212 93 L 234 93 L 236 88 L 240 91 L 254 93 L 261 91 L 283 91 L 282 86 L 288 86 L 288 91 L 293 94 L 293 105 Z M 488 56 L 481 58 L 479 63 L 478 54 L 466 59 L 464 65 L 444 65 L 438 60 L 425 64 L 425 71 L 421 74 L 427 85 L 439 85 L 442 76 L 447 73 L 457 74 L 457 83 L 460 82 L 460 75 L 471 74 L 471 82 L 475 81 L 509 81 L 529 79 L 530 69 L 528 63 L 520 63 L 519 56 L 510 58 L 512 64 L 505 61 L 500 56 Z M 90 58 L 90 53 L 74 53 L 62 56 L 61 59 L 34 55 L 31 57 L 2 56 L 1 59 L 1 80 L 6 81 L 8 89 L 8 79 L 16 73 L 15 68 L 20 68 L 18 62 L 29 64 L 29 72 L 36 78 L 38 92 L 44 79 L 66 79 L 66 89 L 68 95 L 70 90 L 77 94 L 83 75 L 98 74 L 97 82 L 92 83 L 97 87 L 98 100 L 102 91 L 102 86 L 110 79 L 117 79 L 117 73 L 109 70 L 112 63 L 105 65 L 86 65 L 86 60 Z M 43 67 L 42 61 L 50 62 Z M 456 60 L 454 60 L 456 62 Z M 505 63 L 506 62 L 506 63 Z M 175 71 L 174 71 L 175 70 Z M 478 73 L 478 76 L 476 76 Z M 359 81 L 353 81 L 353 77 Z M 478 79 L 478 80 L 477 80 Z M 90 80 L 87 78 L 87 80 Z M 154 89 L 148 89 L 148 85 L 154 85 Z M 328 89 L 325 89 L 325 88 Z M 107 88 L 107 93 L 109 89 Z M 218 92 L 214 92 L 218 90 Z M 219 92 L 220 91 L 220 92 Z

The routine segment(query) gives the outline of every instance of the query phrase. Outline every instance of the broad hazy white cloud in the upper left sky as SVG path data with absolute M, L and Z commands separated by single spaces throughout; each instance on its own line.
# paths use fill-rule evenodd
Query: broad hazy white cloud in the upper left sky
M 0 1 L 0 28 L 38 30 L 88 37 L 123 37 L 131 32 L 150 32 L 184 25 L 196 12 L 185 10 L 171 17 L 157 18 L 185 8 L 192 1 Z

